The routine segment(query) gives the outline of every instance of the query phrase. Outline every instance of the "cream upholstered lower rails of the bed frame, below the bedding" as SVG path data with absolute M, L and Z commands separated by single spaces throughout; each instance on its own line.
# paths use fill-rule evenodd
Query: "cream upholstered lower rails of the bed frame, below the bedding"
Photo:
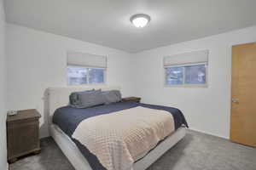
M 73 143 L 66 133 L 64 133 L 57 125 L 51 125 L 49 127 L 49 133 L 55 142 L 59 145 L 62 152 L 67 159 L 72 163 L 76 170 L 92 170 L 89 162 L 84 158 L 77 145 Z M 133 170 L 145 170 L 160 156 L 162 156 L 167 150 L 172 148 L 174 144 L 186 134 L 185 127 L 179 127 L 174 133 L 168 136 L 160 144 L 158 144 L 154 150 L 150 150 L 147 156 L 144 156 L 141 160 L 138 160 L 133 165 Z

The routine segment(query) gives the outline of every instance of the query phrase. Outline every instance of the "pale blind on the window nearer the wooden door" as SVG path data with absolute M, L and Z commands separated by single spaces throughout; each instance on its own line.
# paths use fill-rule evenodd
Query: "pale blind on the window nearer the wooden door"
M 209 50 L 195 51 L 164 57 L 164 67 L 174 65 L 194 65 L 208 62 Z

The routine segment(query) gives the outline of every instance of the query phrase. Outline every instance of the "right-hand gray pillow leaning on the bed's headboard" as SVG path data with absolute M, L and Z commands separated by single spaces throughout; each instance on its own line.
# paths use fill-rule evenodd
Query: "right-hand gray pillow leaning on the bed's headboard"
M 105 105 L 116 103 L 121 101 L 122 96 L 119 90 L 111 90 L 102 92 L 103 98 L 105 99 Z

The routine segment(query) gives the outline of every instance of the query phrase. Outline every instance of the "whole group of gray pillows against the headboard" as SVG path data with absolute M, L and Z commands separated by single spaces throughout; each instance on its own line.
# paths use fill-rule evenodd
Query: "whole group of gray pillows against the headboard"
M 74 108 L 88 108 L 96 105 L 116 103 L 121 99 L 119 90 L 102 92 L 101 89 L 92 89 L 83 92 L 73 92 L 69 96 L 69 104 Z

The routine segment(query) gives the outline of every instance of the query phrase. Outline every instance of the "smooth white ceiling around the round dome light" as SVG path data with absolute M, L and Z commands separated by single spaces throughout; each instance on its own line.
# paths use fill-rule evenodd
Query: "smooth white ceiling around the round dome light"
M 136 53 L 256 24 L 255 0 L 5 0 L 9 23 Z M 144 28 L 133 14 L 149 14 Z

